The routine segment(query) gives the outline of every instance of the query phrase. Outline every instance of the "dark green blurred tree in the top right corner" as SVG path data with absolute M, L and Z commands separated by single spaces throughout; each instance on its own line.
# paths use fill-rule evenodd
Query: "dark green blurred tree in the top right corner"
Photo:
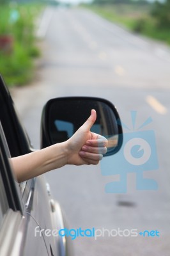
M 155 2 L 151 15 L 157 19 L 157 24 L 161 28 L 169 28 L 170 26 L 170 0 L 164 3 Z

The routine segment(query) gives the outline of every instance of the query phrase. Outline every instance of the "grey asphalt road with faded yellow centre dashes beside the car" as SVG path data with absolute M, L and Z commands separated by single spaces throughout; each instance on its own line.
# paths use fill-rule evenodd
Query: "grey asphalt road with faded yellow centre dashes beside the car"
M 109 176 L 103 176 L 101 168 L 114 168 L 118 156 L 105 157 L 102 166 L 65 166 L 46 175 L 71 228 L 160 232 L 160 237 L 109 237 L 105 232 L 96 241 L 79 237 L 74 241 L 75 256 L 169 256 L 169 48 L 132 35 L 86 10 L 47 9 L 38 36 L 43 36 L 43 56 L 36 81 L 13 92 L 36 148 L 40 147 L 42 108 L 53 97 L 104 97 L 117 106 L 121 120 L 130 127 L 124 132 L 134 132 L 151 116 L 153 122 L 144 130 L 154 131 L 156 136 L 158 168 L 143 172 L 144 177 L 157 181 L 156 191 L 137 190 L 136 173 L 128 173 L 127 193 L 105 193 L 105 184 L 119 180 L 123 166 L 120 163 L 117 174 Z M 130 111 L 134 110 L 133 129 Z

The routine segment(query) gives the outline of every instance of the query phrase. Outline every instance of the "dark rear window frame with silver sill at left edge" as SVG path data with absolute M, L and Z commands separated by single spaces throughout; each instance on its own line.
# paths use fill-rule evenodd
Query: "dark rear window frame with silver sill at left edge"
M 4 256 L 13 255 L 13 245 L 16 243 L 15 239 L 20 228 L 20 223 L 24 220 L 22 218 L 24 207 L 22 200 L 20 200 L 19 187 L 13 177 L 9 158 L 10 153 L 0 122 L 0 200 L 3 211 L 0 220 L 0 255 Z M 22 250 L 19 247 L 19 243 L 17 243 L 17 246 L 19 250 Z

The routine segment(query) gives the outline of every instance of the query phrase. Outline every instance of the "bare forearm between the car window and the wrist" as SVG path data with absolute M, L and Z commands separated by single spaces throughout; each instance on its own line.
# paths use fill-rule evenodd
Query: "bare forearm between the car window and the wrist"
M 67 163 L 66 142 L 24 156 L 13 157 L 11 161 L 18 182 L 31 179 L 50 170 L 60 168 Z

